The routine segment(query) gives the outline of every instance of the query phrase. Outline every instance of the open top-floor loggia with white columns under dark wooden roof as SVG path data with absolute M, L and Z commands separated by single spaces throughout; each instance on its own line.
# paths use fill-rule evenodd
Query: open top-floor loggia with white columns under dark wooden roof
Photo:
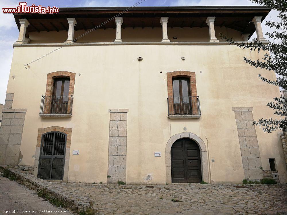
M 257 39 L 267 42 L 261 29 L 270 11 L 266 7 L 136 7 L 117 17 L 124 9 L 60 8 L 58 14 L 45 16 L 14 14 L 19 28 L 14 45 L 216 43 L 224 42 L 220 33 L 248 41 L 255 30 Z

